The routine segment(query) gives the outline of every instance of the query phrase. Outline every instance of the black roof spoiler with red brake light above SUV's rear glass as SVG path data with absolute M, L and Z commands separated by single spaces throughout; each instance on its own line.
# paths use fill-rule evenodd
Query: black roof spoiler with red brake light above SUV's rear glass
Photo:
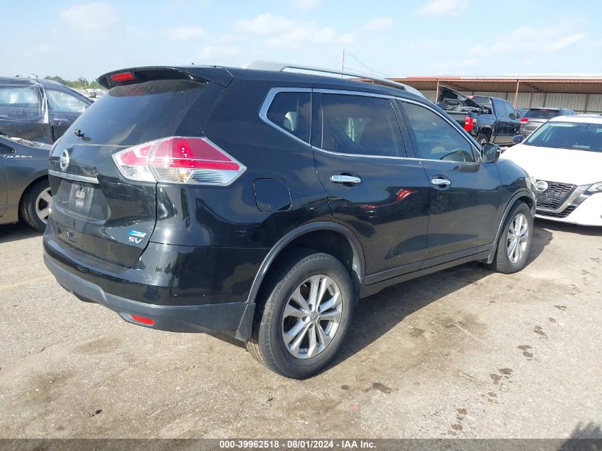
M 227 86 L 232 81 L 232 74 L 217 66 L 148 66 L 140 68 L 121 69 L 98 77 L 98 83 L 110 89 L 116 85 L 142 83 L 150 80 L 190 80 L 198 83 L 214 82 Z

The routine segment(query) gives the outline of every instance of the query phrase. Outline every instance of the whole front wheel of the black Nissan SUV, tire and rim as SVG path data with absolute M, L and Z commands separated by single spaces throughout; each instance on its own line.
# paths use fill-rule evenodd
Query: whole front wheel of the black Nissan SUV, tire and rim
M 497 250 L 489 267 L 494 271 L 512 274 L 526 265 L 533 244 L 533 214 L 524 202 L 518 202 L 509 212 L 497 240 Z

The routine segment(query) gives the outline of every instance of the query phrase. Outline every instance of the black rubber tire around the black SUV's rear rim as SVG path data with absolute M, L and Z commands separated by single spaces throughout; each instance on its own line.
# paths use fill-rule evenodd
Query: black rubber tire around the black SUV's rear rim
M 328 276 L 336 283 L 341 299 L 340 320 L 331 341 L 323 346 L 316 356 L 297 358 L 284 343 L 284 309 L 297 287 L 301 286 L 309 277 L 316 275 Z M 246 343 L 246 348 L 251 355 L 259 363 L 286 378 L 308 378 L 325 368 L 341 348 L 351 321 L 353 304 L 355 304 L 351 279 L 343 264 L 329 254 L 310 249 L 296 249 L 281 261 L 279 269 L 269 277 L 266 288 L 261 292 L 264 302 L 257 306 L 251 339 Z M 311 322 L 316 319 L 305 317 L 304 319 L 299 318 L 297 321 Z M 318 340 L 320 334 L 317 328 L 321 327 L 322 333 L 324 331 L 320 324 L 318 322 L 308 326 L 316 328 L 313 333 Z M 294 324 L 294 326 L 296 325 L 297 323 Z M 305 339 L 303 338 L 303 340 Z

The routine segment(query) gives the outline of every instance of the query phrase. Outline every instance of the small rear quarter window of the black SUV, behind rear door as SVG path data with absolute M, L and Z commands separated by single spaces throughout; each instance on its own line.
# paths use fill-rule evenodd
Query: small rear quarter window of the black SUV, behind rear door
M 309 142 L 310 115 L 310 93 L 278 93 L 267 113 L 272 123 L 305 142 Z

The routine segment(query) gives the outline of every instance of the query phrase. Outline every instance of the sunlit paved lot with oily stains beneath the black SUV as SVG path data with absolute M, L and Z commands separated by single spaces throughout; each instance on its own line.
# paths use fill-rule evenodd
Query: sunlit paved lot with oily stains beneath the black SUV
M 602 437 L 602 230 L 537 222 L 512 276 L 467 264 L 358 304 L 310 380 L 224 338 L 77 301 L 0 227 L 0 437 Z

